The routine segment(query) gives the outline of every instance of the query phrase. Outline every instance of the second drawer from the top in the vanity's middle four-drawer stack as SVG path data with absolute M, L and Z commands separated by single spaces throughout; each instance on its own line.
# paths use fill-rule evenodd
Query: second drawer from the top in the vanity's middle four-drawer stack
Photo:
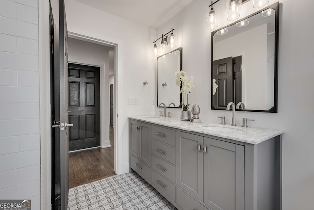
M 152 153 L 176 165 L 176 148 L 152 139 Z

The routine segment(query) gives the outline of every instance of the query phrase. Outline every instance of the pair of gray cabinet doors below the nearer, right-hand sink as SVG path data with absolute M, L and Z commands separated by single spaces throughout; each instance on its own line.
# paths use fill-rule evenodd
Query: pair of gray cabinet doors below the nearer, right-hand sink
M 179 131 L 177 145 L 178 186 L 212 210 L 244 210 L 243 145 Z

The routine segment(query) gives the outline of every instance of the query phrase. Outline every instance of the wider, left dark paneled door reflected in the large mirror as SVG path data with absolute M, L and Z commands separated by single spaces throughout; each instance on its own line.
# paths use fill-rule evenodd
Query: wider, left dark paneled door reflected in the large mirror
M 226 109 L 233 101 L 233 63 L 232 57 L 213 61 L 212 78 L 218 85 L 216 94 L 212 96 L 215 109 Z

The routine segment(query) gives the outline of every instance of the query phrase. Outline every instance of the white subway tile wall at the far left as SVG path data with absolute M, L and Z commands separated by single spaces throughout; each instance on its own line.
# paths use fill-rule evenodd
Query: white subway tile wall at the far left
M 0 0 L 0 198 L 40 209 L 38 0 Z

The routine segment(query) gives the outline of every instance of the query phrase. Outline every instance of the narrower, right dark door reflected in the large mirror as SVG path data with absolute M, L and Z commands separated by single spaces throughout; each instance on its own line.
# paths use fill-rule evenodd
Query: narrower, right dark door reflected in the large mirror
M 233 57 L 233 79 L 234 79 L 234 103 L 237 105 L 242 101 L 242 56 Z

